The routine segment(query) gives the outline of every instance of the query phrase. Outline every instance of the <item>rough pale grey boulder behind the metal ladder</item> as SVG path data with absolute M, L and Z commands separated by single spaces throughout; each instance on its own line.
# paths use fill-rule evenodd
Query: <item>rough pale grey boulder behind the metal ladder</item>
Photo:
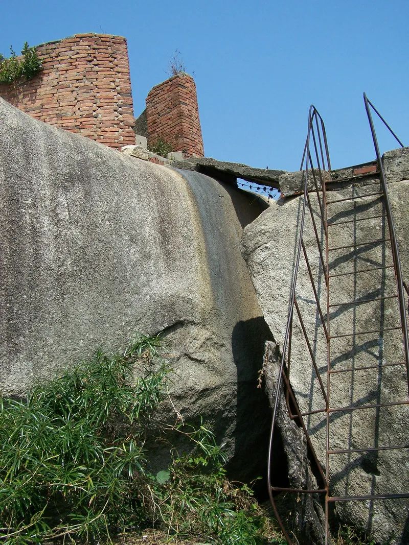
M 376 180 L 368 185 L 354 185 L 327 193 L 328 200 L 369 194 L 379 190 Z M 396 235 L 404 279 L 409 279 L 409 182 L 388 184 L 393 207 Z M 318 235 L 323 250 L 325 239 L 314 194 L 310 194 Z M 276 344 L 282 348 L 287 324 L 289 300 L 294 274 L 299 223 L 303 197 L 280 199 L 251 225 L 244 229 L 243 256 L 252 275 L 258 300 Z M 348 205 L 348 206 L 347 206 Z M 384 207 L 376 197 L 357 198 L 349 202 L 328 205 L 328 222 L 351 221 L 365 217 L 359 223 L 329 225 L 329 247 L 341 247 L 329 252 L 330 274 L 392 265 L 384 219 L 371 216 L 384 214 Z M 371 218 L 371 219 L 370 219 Z M 326 323 L 326 288 L 320 264 L 320 254 L 311 225 L 308 209 L 305 216 L 304 244 L 311 265 L 311 274 Z M 360 245 L 373 241 L 372 244 Z M 348 335 L 330 342 L 330 368 L 351 370 L 360 366 L 374 366 L 366 371 L 333 373 L 330 379 L 330 407 L 354 404 L 394 403 L 408 399 L 406 367 L 394 365 L 402 361 L 400 330 L 384 334 L 360 335 L 362 331 L 392 328 L 399 325 L 393 268 L 371 273 L 330 278 L 330 335 Z M 351 301 L 365 301 L 356 305 L 340 305 Z M 324 386 L 327 380 L 327 343 L 320 314 L 303 252 L 297 282 L 297 301 L 310 340 L 312 354 Z M 291 345 L 290 380 L 302 412 L 325 408 L 324 396 L 317 375 L 312 368 L 308 346 L 302 327 L 294 311 Z M 326 388 L 324 387 L 324 391 Z M 409 406 L 399 405 L 357 411 L 334 412 L 330 416 L 329 448 L 368 449 L 378 446 L 407 444 Z M 322 467 L 326 466 L 326 413 L 304 419 L 312 444 Z M 409 490 L 409 453 L 407 449 L 364 451 L 330 456 L 329 472 L 333 495 L 366 495 L 406 493 Z M 366 530 L 375 541 L 392 538 L 391 543 L 409 542 L 409 500 L 349 501 L 336 505 L 344 522 Z

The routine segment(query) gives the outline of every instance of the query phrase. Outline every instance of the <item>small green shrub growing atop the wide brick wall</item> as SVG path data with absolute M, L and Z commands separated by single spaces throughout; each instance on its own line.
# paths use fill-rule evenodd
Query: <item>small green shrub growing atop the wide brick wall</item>
M 17 57 L 13 47 L 11 56 L 6 58 L 0 54 L 0 83 L 14 83 L 17 80 L 31 80 L 41 70 L 41 59 L 35 47 L 29 47 L 26 42 L 21 50 L 22 58 Z

